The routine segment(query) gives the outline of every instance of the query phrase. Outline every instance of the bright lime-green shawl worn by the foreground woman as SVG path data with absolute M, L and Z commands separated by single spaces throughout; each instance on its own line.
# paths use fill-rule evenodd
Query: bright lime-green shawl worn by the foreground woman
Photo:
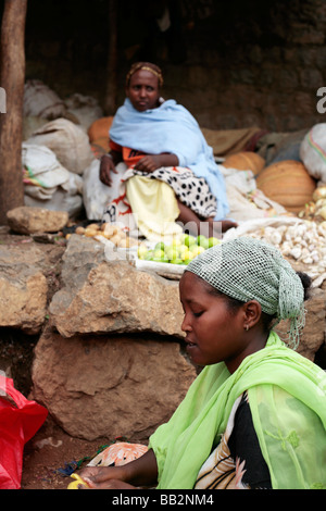
M 326 488 L 325 372 L 272 332 L 266 347 L 235 373 L 224 362 L 206 366 L 171 420 L 150 437 L 158 489 L 195 487 L 244 390 L 273 488 Z

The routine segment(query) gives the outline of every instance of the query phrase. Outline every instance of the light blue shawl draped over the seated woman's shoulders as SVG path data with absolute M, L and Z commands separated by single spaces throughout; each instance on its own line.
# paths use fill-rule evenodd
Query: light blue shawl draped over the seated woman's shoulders
M 217 200 L 215 220 L 229 212 L 223 174 L 215 163 L 195 117 L 175 100 L 164 101 L 159 108 L 138 112 L 127 98 L 117 110 L 110 129 L 110 138 L 122 147 L 146 154 L 168 152 L 176 154 L 178 165 L 203 177 Z

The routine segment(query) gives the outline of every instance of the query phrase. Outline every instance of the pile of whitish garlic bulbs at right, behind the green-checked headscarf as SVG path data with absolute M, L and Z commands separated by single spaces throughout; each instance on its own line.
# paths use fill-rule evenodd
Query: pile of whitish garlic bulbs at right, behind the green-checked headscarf
M 326 221 L 298 221 L 293 225 L 266 226 L 250 233 L 277 247 L 284 257 L 306 265 L 306 273 L 318 287 L 326 279 Z

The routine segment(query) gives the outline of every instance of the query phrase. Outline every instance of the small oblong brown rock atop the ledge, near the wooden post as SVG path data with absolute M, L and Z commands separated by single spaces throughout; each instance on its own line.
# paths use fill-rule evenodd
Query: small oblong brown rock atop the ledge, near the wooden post
M 8 211 L 7 220 L 15 233 L 58 233 L 67 224 L 68 213 L 22 205 Z

